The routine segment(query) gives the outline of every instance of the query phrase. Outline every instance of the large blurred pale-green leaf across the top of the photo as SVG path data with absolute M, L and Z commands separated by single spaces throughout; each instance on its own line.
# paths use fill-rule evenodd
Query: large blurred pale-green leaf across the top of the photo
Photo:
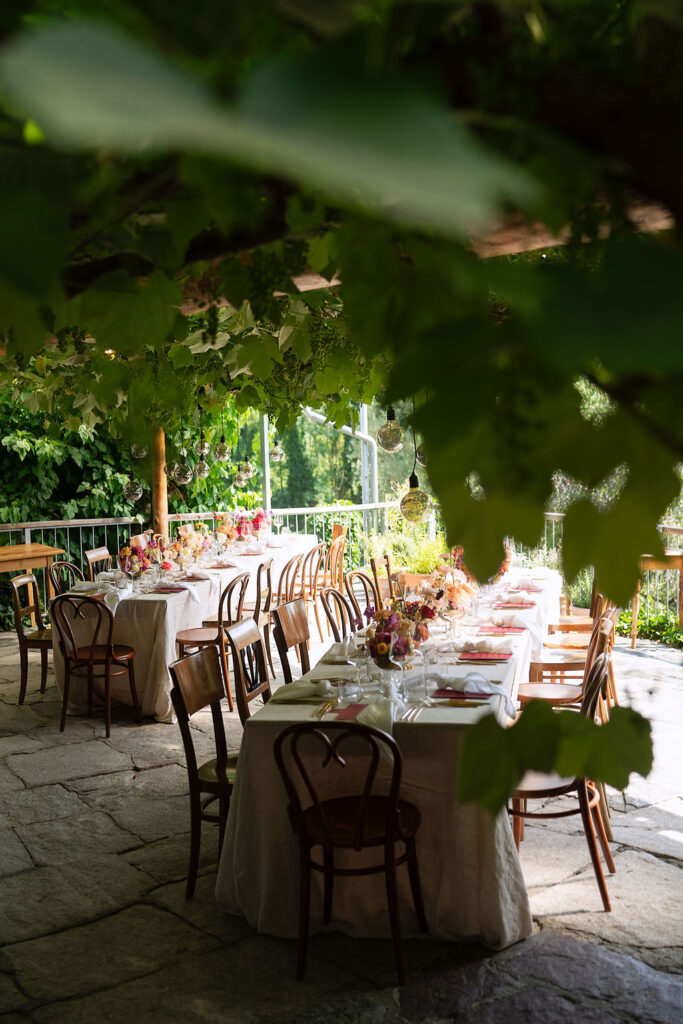
M 8 43 L 0 82 L 60 144 L 220 155 L 446 234 L 483 225 L 504 199 L 531 196 L 445 105 L 324 53 L 263 63 L 227 111 L 115 29 L 62 22 Z

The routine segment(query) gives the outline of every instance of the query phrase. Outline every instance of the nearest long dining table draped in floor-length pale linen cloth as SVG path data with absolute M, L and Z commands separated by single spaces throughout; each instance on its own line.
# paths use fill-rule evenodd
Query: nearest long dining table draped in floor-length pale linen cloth
M 508 585 L 512 582 L 507 581 Z M 541 585 L 543 594 L 538 595 L 537 604 L 523 613 L 547 629 L 549 618 L 559 611 L 559 577 L 546 575 Z M 529 632 L 508 639 L 512 639 L 513 653 L 506 666 L 467 668 L 501 682 L 514 700 L 519 683 L 528 679 L 535 643 Z M 330 666 L 326 670 L 318 665 L 310 677 L 324 678 L 326 671 L 335 673 Z M 401 796 L 415 803 L 422 815 L 418 862 L 430 934 L 443 939 L 478 938 L 503 948 L 531 932 L 526 887 L 508 817 L 504 811 L 493 817 L 455 799 L 460 744 L 466 730 L 492 710 L 501 723 L 506 721 L 502 698 L 494 697 L 488 706 L 478 708 L 426 707 L 414 722 L 394 721 L 392 731 L 403 756 Z M 216 898 L 223 908 L 244 915 L 257 931 L 282 938 L 297 935 L 299 850 L 272 746 L 282 729 L 310 719 L 314 712 L 310 705 L 270 700 L 248 721 L 216 885 Z M 335 717 L 331 714 L 323 721 Z M 357 788 L 357 776 L 354 780 L 350 775 L 344 783 L 349 786 L 346 792 L 353 792 L 354 782 Z M 343 793 L 335 790 L 337 796 Z M 369 856 L 376 854 L 369 851 Z M 339 862 L 343 864 L 341 856 Z M 417 920 L 402 868 L 398 886 L 403 934 L 416 935 Z M 322 876 L 314 871 L 311 933 L 323 928 L 322 921 Z M 354 936 L 388 936 L 383 876 L 335 879 L 331 928 Z

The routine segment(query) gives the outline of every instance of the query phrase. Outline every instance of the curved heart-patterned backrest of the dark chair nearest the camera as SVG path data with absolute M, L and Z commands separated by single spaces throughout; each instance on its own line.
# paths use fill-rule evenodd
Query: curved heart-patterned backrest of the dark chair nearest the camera
M 342 751 L 345 745 L 348 746 L 346 754 Z M 358 777 L 348 846 L 361 849 L 365 824 L 373 813 L 373 804 L 377 806 L 373 798 L 378 796 L 386 799 L 385 835 L 392 837 L 396 834 L 402 762 L 398 745 L 388 733 L 357 722 L 297 722 L 278 734 L 273 754 L 287 790 L 292 824 L 299 837 L 312 838 L 306 827 L 307 819 L 312 816 L 315 842 L 333 845 L 324 791 L 335 792 L 335 779 L 347 768 Z M 358 772 L 361 759 L 368 762 L 365 774 Z M 378 784 L 377 770 L 381 759 L 392 761 L 388 786 L 386 782 Z M 328 778 L 330 782 L 327 782 Z M 314 814 L 311 815 L 313 808 Z

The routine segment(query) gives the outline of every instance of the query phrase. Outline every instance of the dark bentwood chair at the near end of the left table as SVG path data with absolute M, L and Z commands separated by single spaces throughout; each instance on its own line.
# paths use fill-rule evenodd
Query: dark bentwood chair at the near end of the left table
M 126 644 L 115 644 L 114 615 L 103 601 L 94 597 L 61 594 L 52 602 L 52 621 L 59 635 L 59 648 L 65 662 L 65 689 L 61 701 L 59 732 L 65 731 L 69 693 L 74 676 L 85 679 L 88 689 L 88 717 L 92 716 L 92 695 L 95 681 L 104 685 L 104 714 L 108 737 L 112 732 L 112 679 L 128 675 L 128 685 L 137 718 L 140 705 L 135 688 L 135 650 Z M 85 636 L 77 639 L 77 634 Z

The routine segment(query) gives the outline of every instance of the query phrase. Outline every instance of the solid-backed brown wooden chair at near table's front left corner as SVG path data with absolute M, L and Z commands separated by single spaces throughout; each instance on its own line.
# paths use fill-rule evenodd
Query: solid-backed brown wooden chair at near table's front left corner
M 173 680 L 171 700 L 180 728 L 189 776 L 189 866 L 185 899 L 191 899 L 197 885 L 203 821 L 213 821 L 218 824 L 220 856 L 237 758 L 230 760 L 227 754 L 221 705 L 225 691 L 217 648 L 204 647 L 196 654 L 176 662 L 170 667 L 170 673 Z M 198 765 L 189 719 L 204 708 L 211 709 L 216 757 Z M 202 801 L 203 795 L 206 795 L 204 801 Z M 216 801 L 218 813 L 214 814 L 207 808 Z

